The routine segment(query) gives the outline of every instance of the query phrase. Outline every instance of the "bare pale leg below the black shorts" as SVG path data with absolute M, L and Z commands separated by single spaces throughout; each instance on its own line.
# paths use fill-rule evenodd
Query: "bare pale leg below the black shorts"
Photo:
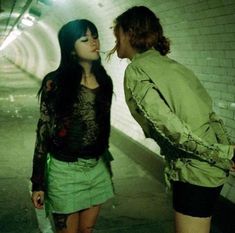
M 211 217 L 200 218 L 175 211 L 175 233 L 209 233 Z

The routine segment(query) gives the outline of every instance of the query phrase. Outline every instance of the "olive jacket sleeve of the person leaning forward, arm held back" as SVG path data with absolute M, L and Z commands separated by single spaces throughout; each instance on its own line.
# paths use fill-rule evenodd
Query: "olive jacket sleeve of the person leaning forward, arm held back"
M 174 114 L 147 74 L 129 66 L 125 72 L 125 98 L 132 116 L 160 147 L 168 146 L 192 154 L 222 169 L 229 169 L 233 156 L 231 145 L 213 144 L 195 135 L 190 127 Z M 151 133 L 150 133 L 151 132 Z

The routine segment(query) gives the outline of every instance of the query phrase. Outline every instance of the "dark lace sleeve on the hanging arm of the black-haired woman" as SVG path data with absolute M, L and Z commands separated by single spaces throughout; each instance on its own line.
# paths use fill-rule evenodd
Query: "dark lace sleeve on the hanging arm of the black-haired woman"
M 44 88 L 40 101 L 40 117 L 36 129 L 36 143 L 31 176 L 32 191 L 45 191 L 45 169 L 50 141 L 51 117 L 49 114 L 48 92 Z

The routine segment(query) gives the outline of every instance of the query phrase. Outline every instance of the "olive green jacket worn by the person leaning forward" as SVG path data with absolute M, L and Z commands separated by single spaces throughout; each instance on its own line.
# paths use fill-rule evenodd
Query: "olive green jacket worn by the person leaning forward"
M 165 156 L 165 177 L 216 187 L 232 166 L 233 147 L 212 101 L 192 71 L 156 50 L 138 53 L 125 71 L 126 103 Z

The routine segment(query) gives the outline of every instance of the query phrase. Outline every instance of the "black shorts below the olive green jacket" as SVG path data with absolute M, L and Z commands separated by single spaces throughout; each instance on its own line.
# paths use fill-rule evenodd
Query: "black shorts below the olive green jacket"
M 193 217 L 210 217 L 222 187 L 202 187 L 173 181 L 173 208 Z

